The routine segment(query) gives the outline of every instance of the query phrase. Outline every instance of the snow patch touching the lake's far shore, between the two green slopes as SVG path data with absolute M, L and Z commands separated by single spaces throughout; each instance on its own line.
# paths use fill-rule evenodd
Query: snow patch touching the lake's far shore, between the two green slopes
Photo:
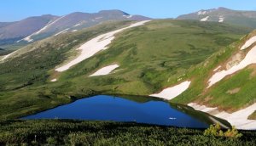
M 168 87 L 160 93 L 154 93 L 149 96 L 171 100 L 172 98 L 176 98 L 179 94 L 187 90 L 189 88 L 190 82 L 191 81 L 184 81 L 174 87 Z

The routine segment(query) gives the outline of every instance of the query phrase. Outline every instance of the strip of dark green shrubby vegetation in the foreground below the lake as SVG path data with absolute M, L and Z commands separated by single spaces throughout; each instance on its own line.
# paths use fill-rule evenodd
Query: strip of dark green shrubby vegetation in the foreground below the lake
M 241 138 L 204 136 L 204 130 L 102 121 L 2 121 L 0 144 L 55 145 L 255 145 Z

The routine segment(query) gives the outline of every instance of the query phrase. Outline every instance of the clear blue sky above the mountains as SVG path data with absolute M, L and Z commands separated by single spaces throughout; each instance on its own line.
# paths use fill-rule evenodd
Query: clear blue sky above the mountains
M 176 18 L 180 14 L 218 7 L 256 11 L 256 0 L 1 0 L 0 21 L 22 20 L 42 14 L 96 13 L 106 9 L 151 18 Z

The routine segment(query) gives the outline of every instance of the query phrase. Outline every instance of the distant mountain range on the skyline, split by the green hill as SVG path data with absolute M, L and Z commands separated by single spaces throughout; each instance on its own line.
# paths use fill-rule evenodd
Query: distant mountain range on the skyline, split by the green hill
M 212 8 L 191 14 L 183 14 L 177 20 L 200 20 L 228 23 L 256 28 L 255 11 L 237 11 L 228 8 Z M 0 22 L 0 47 L 16 50 L 28 43 L 57 36 L 68 31 L 78 31 L 109 20 L 152 20 L 142 15 L 131 15 L 120 10 L 102 10 L 88 14 L 75 12 L 63 16 L 45 14 L 15 22 Z M 2 51 L 3 53 L 3 51 Z

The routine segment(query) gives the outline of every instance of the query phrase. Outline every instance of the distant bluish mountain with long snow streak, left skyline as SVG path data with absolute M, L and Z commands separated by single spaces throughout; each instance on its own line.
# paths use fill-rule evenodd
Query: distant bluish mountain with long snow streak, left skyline
M 0 23 L 0 45 L 14 42 L 33 42 L 47 36 L 77 31 L 108 20 L 150 20 L 147 17 L 119 10 L 105 10 L 96 14 L 76 12 L 64 16 L 43 15 L 11 24 Z

